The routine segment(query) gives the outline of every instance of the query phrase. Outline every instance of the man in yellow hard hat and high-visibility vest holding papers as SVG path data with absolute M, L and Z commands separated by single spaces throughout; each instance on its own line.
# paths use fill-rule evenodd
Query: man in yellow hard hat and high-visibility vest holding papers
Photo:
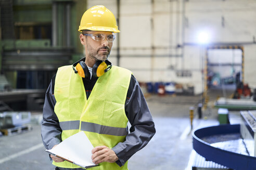
M 45 97 L 42 139 L 52 149 L 67 137 L 84 131 L 92 145 L 89 169 L 128 169 L 127 160 L 156 133 L 137 80 L 107 60 L 120 32 L 105 6 L 85 11 L 79 31 L 86 58 L 58 69 Z M 127 121 L 131 123 L 130 133 Z M 50 155 L 56 169 L 82 169 Z

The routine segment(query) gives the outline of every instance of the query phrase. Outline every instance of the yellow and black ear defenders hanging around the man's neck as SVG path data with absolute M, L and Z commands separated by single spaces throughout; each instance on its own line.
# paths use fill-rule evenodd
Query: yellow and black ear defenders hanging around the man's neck
M 87 65 L 84 63 L 84 59 L 79 60 L 78 62 L 75 62 L 73 64 L 73 70 L 75 74 L 79 74 L 83 78 L 91 77 L 91 74 L 89 73 L 89 69 Z M 110 61 L 106 60 L 104 61 L 96 61 L 96 63 L 93 65 L 93 71 L 92 74 L 94 77 L 100 77 L 104 75 L 108 70 L 112 68 L 112 64 Z

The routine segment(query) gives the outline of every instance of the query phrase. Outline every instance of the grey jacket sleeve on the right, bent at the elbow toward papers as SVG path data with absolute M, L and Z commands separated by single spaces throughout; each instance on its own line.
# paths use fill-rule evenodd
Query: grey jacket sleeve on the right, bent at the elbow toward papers
M 119 158 L 116 162 L 119 166 L 124 165 L 134 153 L 144 148 L 156 133 L 155 124 L 139 83 L 133 76 L 131 81 L 125 102 L 125 113 L 131 123 L 130 133 L 123 143 L 112 148 Z M 131 91 L 130 98 L 129 91 Z

